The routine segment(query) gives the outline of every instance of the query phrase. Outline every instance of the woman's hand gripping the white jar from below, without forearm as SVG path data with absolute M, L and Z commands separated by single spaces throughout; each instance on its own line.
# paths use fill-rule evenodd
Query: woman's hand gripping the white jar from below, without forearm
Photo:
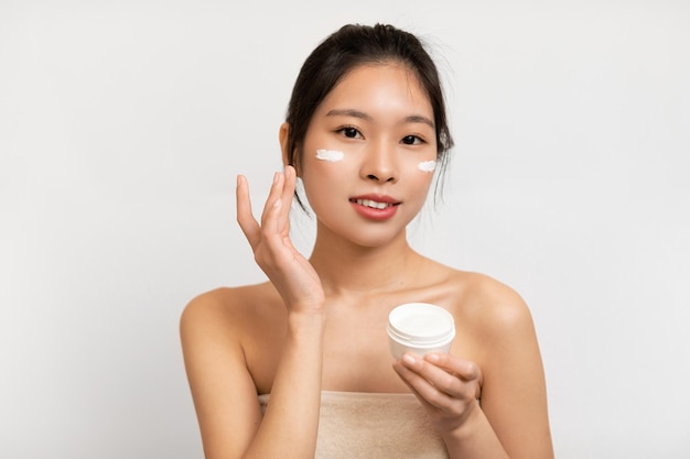
M 453 434 L 481 411 L 482 371 L 468 360 L 449 353 L 421 358 L 408 352 L 393 369 L 444 434 Z

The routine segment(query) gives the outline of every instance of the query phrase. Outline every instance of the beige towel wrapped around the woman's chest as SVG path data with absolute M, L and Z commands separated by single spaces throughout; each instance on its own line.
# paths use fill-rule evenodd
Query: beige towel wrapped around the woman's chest
M 270 395 L 259 395 L 266 411 Z M 441 436 L 412 394 L 321 394 L 316 459 L 448 459 Z

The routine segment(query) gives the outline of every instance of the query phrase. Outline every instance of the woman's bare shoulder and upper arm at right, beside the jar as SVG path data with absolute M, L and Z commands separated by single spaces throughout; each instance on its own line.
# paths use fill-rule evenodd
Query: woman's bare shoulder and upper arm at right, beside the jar
M 522 296 L 486 274 L 449 269 L 455 356 L 481 369 L 482 411 L 510 457 L 553 458 L 545 371 Z

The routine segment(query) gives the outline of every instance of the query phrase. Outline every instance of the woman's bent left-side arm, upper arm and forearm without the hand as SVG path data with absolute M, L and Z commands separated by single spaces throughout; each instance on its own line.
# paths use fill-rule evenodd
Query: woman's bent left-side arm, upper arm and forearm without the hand
M 257 389 L 233 317 L 214 293 L 195 298 L 181 319 L 187 379 L 207 459 L 313 458 L 321 396 L 319 316 L 293 315 L 271 398 L 261 416 Z

